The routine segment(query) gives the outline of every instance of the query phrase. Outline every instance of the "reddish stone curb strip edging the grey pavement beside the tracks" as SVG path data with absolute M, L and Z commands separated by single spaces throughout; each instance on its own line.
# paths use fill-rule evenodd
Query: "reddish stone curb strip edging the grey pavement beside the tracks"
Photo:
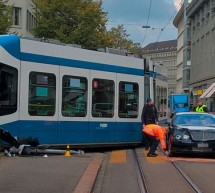
M 96 154 L 92 162 L 87 166 L 83 176 L 78 182 L 73 193 L 91 193 L 103 161 L 103 154 Z

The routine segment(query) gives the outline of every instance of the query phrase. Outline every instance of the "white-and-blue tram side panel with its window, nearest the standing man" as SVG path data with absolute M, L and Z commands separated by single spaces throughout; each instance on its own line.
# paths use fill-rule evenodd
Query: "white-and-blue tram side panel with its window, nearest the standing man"
M 144 77 L 117 74 L 116 142 L 141 142 Z

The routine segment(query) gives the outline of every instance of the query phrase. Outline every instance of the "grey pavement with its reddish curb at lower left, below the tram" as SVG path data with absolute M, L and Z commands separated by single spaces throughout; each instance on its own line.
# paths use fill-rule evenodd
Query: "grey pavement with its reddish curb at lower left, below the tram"
M 103 154 L 6 157 L 0 154 L 1 193 L 90 193 Z

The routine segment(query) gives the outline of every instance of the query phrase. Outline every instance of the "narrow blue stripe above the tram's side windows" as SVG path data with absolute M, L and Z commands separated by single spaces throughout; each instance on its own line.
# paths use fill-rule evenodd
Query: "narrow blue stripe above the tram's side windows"
M 75 68 L 144 76 L 143 69 L 135 69 L 135 68 L 114 66 L 114 65 L 108 65 L 108 64 L 100 64 L 95 62 L 86 62 L 86 61 L 79 61 L 79 60 L 73 60 L 73 59 L 58 58 L 53 56 L 43 56 L 43 55 L 29 54 L 24 52 L 21 53 L 21 60 L 28 61 L 28 62 L 37 62 L 42 64 L 52 64 L 52 65 L 59 65 L 59 66 L 69 66 L 69 67 L 75 67 Z

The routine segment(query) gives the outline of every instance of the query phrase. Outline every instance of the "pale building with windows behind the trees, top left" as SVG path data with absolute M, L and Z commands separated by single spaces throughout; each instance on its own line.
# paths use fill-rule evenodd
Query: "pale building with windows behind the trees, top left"
M 32 30 L 36 25 L 36 10 L 33 0 L 9 0 L 8 5 L 13 5 L 13 23 L 9 33 L 22 37 L 33 37 Z

